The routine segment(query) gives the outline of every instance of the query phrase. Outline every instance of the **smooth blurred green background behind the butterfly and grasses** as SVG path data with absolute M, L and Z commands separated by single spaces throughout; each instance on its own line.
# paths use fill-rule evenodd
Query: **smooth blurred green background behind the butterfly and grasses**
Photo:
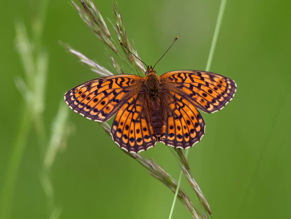
M 114 22 L 111 0 L 94 3 L 118 43 L 107 19 Z M 117 4 L 130 42 L 134 40 L 148 65 L 154 65 L 179 37 L 155 67 L 158 75 L 180 69 L 205 70 L 220 1 L 119 0 Z M 17 76 L 24 76 L 14 45 L 14 24 L 23 19 L 31 36 L 37 2 L 2 1 L 0 6 L 2 190 L 25 109 L 14 84 Z M 223 110 L 202 113 L 206 135 L 188 154 L 194 178 L 216 219 L 290 217 L 290 10 L 290 1 L 226 3 L 210 71 L 235 80 L 237 92 Z M 49 53 L 44 110 L 47 135 L 64 93 L 97 77 L 66 53 L 58 40 L 68 42 L 113 72 L 104 44 L 68 1 L 49 1 L 42 37 Z M 66 147 L 57 154 L 50 175 L 55 205 L 62 209 L 60 218 L 168 218 L 172 191 L 123 153 L 98 123 L 71 110 L 69 120 L 73 131 Z M 180 167 L 168 147 L 158 143 L 142 153 L 173 178 L 179 178 Z M 31 126 L 9 205 L 11 218 L 49 217 L 41 168 L 40 148 Z M 181 186 L 195 202 L 195 193 L 185 177 Z M 191 215 L 177 201 L 172 218 Z

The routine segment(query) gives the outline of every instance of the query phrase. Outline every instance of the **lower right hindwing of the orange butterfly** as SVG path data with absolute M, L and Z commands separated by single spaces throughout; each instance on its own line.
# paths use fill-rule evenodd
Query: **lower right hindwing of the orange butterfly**
M 162 94 L 163 125 L 160 142 L 186 149 L 200 141 L 205 133 L 204 120 L 197 108 L 170 90 Z

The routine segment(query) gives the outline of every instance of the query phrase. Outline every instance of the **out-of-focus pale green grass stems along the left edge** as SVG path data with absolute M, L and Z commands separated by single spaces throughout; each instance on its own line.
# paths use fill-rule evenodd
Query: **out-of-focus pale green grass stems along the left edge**
M 11 217 L 13 190 L 31 126 L 34 127 L 39 145 L 40 159 L 43 161 L 40 166 L 40 182 L 46 198 L 47 218 L 57 219 L 61 213 L 61 208 L 55 206 L 55 194 L 51 183 L 51 165 L 58 151 L 57 149 L 64 142 L 64 137 L 66 136 L 64 130 L 67 129 L 64 126 L 66 125 L 66 112 L 68 109 L 64 108 L 65 104 L 62 101 L 63 106 L 59 108 L 59 116 L 56 118 L 56 123 L 58 124 L 55 124 L 52 128 L 50 133 L 51 141 L 48 143 L 43 115 L 48 53 L 43 49 L 42 45 L 48 1 L 40 0 L 35 3 L 38 4 L 38 7 L 36 15 L 31 20 L 32 37 L 28 37 L 25 23 L 21 19 L 15 22 L 15 47 L 24 69 L 24 78 L 21 76 L 16 77 L 15 85 L 25 100 L 25 106 L 19 106 L 20 109 L 23 109 L 23 114 L 3 180 L 0 197 L 0 218 L 3 219 Z

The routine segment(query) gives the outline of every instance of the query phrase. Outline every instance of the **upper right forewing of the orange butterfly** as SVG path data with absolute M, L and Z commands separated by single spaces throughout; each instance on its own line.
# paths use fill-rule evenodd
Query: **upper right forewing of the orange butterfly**
M 236 83 L 212 72 L 180 70 L 160 76 L 163 87 L 206 113 L 221 110 L 236 92 Z

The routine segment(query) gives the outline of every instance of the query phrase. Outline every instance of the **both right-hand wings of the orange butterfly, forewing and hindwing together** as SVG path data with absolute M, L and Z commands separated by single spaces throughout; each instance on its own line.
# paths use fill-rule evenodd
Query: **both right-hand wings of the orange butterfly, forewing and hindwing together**
M 197 110 L 213 113 L 222 109 L 236 92 L 233 80 L 211 72 L 173 71 L 160 76 L 163 126 L 159 139 L 175 148 L 189 148 L 205 134 Z

